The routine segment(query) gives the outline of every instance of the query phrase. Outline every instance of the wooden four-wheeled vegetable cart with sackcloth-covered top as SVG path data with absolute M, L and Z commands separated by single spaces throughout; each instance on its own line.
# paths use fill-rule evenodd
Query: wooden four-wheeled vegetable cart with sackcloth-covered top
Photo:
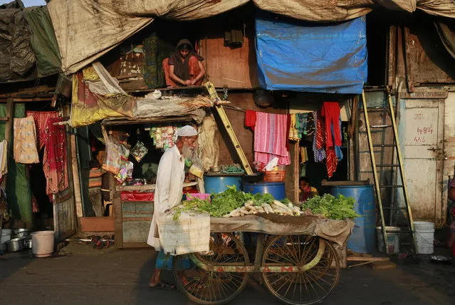
M 296 223 L 294 219 L 299 220 Z M 209 251 L 188 254 L 193 265 L 180 271 L 177 266 L 184 256 L 174 257 L 177 286 L 199 304 L 224 304 L 234 299 L 246 286 L 249 274 L 256 272 L 279 300 L 317 304 L 338 283 L 337 252 L 352 226 L 352 220 L 313 216 L 211 217 Z M 247 251 L 240 232 L 258 233 L 255 252 Z

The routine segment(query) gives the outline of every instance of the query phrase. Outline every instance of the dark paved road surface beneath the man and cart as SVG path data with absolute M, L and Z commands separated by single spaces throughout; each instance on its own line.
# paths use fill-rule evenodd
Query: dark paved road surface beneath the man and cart
M 26 252 L 0 257 L 1 304 L 193 304 L 178 291 L 150 290 L 154 266 L 146 249 L 96 251 L 72 245 L 68 254 L 33 259 Z M 165 274 L 172 280 L 170 274 Z M 455 266 L 420 263 L 377 271 L 345 269 L 323 304 L 455 304 Z M 251 281 L 230 304 L 279 304 Z

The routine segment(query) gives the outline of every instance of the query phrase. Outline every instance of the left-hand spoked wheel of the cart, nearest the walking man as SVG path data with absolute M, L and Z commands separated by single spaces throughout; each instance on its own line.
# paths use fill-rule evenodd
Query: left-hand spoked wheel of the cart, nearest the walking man
M 194 265 L 191 269 L 177 270 L 179 259 L 174 258 L 174 276 L 177 287 L 189 299 L 199 304 L 224 304 L 234 299 L 246 286 L 248 274 L 235 272 L 249 264 L 248 253 L 243 244 L 230 233 L 211 233 L 209 252 L 194 253 L 203 264 L 226 266 L 224 272 L 207 272 Z M 231 267 L 233 272 L 229 272 Z

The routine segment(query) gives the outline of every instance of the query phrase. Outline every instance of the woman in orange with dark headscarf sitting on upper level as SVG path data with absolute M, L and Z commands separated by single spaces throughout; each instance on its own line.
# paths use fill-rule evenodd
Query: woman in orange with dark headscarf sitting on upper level
M 163 61 L 168 87 L 200 86 L 205 75 L 204 58 L 194 52 L 192 43 L 182 39 L 174 54 Z

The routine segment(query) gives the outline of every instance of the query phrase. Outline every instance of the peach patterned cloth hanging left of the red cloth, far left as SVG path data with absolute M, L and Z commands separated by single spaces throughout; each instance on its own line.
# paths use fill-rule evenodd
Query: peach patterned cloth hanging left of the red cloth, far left
M 17 163 L 39 163 L 33 118 L 14 119 L 14 160 Z

